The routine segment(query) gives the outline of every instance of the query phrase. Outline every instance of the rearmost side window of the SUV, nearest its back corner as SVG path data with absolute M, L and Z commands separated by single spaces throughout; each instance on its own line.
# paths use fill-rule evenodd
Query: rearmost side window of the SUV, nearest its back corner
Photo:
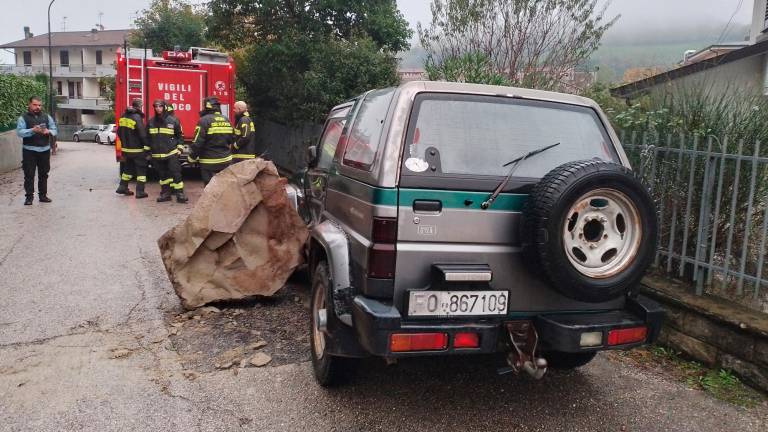
M 344 165 L 370 171 L 395 89 L 374 90 L 365 96 L 347 137 Z

